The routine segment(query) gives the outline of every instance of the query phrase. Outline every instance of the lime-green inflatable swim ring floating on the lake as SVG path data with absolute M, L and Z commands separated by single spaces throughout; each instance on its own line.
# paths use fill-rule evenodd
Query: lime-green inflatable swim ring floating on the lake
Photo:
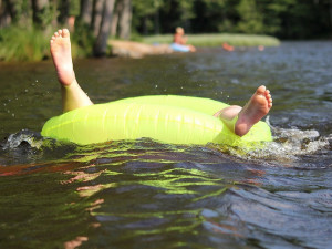
M 189 96 L 158 95 L 132 97 L 77 108 L 49 120 L 42 136 L 93 144 L 151 137 L 170 144 L 227 144 L 250 146 L 272 141 L 270 127 L 257 123 L 239 137 L 212 115 L 225 103 Z

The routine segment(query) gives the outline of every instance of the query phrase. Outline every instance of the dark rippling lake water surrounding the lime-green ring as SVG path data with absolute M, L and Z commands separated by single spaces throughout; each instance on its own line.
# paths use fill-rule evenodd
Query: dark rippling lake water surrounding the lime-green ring
M 95 103 L 178 94 L 243 105 L 264 84 L 274 141 L 245 152 L 43 139 L 61 114 L 52 62 L 0 63 L 0 248 L 332 247 L 332 42 L 74 66 Z

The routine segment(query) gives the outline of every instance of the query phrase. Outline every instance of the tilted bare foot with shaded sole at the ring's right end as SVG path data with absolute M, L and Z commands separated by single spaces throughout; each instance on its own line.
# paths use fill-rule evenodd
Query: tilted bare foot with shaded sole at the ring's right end
M 272 97 L 270 91 L 264 85 L 259 86 L 250 101 L 245 105 L 238 115 L 235 125 L 235 133 L 238 136 L 246 135 L 249 129 L 267 115 L 272 107 Z

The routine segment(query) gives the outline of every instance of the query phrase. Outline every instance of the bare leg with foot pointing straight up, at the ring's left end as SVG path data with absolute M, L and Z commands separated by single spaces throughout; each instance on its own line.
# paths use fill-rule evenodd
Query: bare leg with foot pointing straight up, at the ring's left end
M 69 30 L 56 31 L 50 40 L 50 46 L 58 80 L 61 83 L 63 112 L 93 105 L 75 77 Z

